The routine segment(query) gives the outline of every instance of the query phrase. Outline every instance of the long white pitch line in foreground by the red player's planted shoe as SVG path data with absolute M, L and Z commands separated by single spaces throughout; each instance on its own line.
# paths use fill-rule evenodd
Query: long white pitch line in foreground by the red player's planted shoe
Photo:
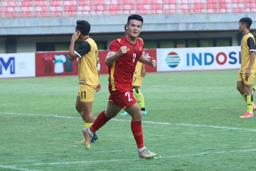
M 185 157 L 185 156 L 192 156 L 192 155 L 203 155 L 203 154 L 219 154 L 219 153 L 232 153 L 232 152 L 248 152 L 248 151 L 256 151 L 256 149 L 250 150 L 236 150 L 236 151 L 220 151 L 220 152 L 211 152 L 211 153 L 196 153 L 196 154 L 184 154 L 184 155 L 173 155 L 173 156 L 166 156 L 166 157 L 155 157 L 156 159 L 164 159 L 164 158 L 176 158 L 176 157 Z M 24 165 L 16 165 L 17 166 L 31 166 L 31 165 L 55 165 L 55 164 L 74 164 L 74 163 L 96 163 L 96 162 L 115 162 L 115 161 L 133 161 L 133 160 L 141 160 L 141 159 L 120 159 L 120 160 L 99 160 L 99 161 L 81 161 L 81 162 L 57 162 L 57 163 L 35 163 L 35 164 L 24 164 Z

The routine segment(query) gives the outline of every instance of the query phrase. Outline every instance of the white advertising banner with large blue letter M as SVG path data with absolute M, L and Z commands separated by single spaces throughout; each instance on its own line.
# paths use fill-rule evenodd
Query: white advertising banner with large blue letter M
M 0 54 L 0 78 L 35 77 L 35 53 Z

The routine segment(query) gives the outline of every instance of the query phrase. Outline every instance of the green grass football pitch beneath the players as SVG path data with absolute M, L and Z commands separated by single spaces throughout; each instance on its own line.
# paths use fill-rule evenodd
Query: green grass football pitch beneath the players
M 149 160 L 138 157 L 130 116 L 98 130 L 90 151 L 74 144 L 84 127 L 75 110 L 78 76 L 0 79 L 0 171 L 254 171 L 256 121 L 239 118 L 247 105 L 237 74 L 147 73 L 142 129 L 146 148 L 157 153 Z M 100 82 L 95 118 L 109 97 L 108 75 Z

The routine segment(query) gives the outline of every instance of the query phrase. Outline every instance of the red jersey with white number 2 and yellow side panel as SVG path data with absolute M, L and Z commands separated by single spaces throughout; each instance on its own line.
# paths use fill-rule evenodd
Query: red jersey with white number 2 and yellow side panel
M 109 91 L 122 91 L 132 89 L 133 74 L 137 61 L 143 53 L 144 42 L 137 38 L 135 44 L 131 44 L 126 36 L 113 40 L 109 45 L 109 51 L 118 52 L 121 46 L 127 47 L 127 53 L 119 56 L 113 64 L 108 65 Z

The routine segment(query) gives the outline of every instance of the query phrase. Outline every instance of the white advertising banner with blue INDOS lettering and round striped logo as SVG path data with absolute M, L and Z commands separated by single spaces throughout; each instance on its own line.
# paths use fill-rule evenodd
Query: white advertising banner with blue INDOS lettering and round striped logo
M 241 46 L 157 49 L 157 71 L 239 69 Z

